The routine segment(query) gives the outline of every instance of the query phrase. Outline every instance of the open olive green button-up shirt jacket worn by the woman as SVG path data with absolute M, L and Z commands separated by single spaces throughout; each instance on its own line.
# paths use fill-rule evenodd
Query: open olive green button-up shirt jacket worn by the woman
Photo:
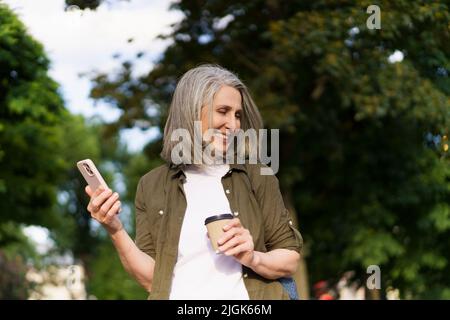
M 230 165 L 222 177 L 230 208 L 250 231 L 256 251 L 284 248 L 300 253 L 302 236 L 284 206 L 278 179 L 275 175 L 261 175 L 262 166 Z M 139 180 L 135 199 L 136 245 L 155 260 L 149 299 L 169 298 L 186 211 L 185 179 L 181 167 L 164 164 Z M 250 299 L 289 299 L 278 281 L 265 279 L 245 266 L 242 268 Z

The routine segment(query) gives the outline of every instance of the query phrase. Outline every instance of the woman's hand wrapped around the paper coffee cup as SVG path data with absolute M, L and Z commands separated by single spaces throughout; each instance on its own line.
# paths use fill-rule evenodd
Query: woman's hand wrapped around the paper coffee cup
M 255 247 L 250 231 L 242 226 L 238 218 L 231 220 L 223 230 L 225 233 L 218 240 L 220 252 L 233 256 L 242 265 L 250 267 Z

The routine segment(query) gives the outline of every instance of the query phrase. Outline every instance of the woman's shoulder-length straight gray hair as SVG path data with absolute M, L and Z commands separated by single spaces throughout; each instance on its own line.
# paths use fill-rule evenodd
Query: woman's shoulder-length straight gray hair
M 178 141 L 171 141 L 172 132 L 177 129 L 186 129 L 191 141 L 194 141 L 194 121 L 200 121 L 202 107 L 208 106 L 210 111 L 209 123 L 211 123 L 213 99 L 222 86 L 233 87 L 241 94 L 243 111 L 241 129 L 254 129 L 258 132 L 259 129 L 263 128 L 258 107 L 243 82 L 234 73 L 221 66 L 200 65 L 187 71 L 181 77 L 173 94 L 169 116 L 164 128 L 163 150 L 161 152 L 161 157 L 167 163 L 172 163 L 172 150 L 179 143 Z M 257 148 L 257 146 L 248 147 L 250 149 Z

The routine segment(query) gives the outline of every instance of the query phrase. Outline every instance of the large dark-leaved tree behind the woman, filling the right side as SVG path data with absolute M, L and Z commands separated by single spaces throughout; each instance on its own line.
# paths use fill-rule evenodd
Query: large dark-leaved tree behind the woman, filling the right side
M 381 30 L 367 28 L 371 4 L 176 2 L 184 18 L 155 68 L 135 79 L 126 61 L 94 77 L 91 95 L 123 111 L 113 130 L 162 128 L 183 72 L 205 62 L 237 72 L 266 126 L 281 129 L 282 189 L 311 283 L 348 270 L 365 283 L 376 264 L 384 289 L 448 298 L 448 3 L 379 1 Z

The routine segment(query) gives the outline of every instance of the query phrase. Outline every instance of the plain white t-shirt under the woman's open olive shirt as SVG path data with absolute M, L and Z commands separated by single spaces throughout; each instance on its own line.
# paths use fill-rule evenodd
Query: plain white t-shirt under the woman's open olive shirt
M 221 178 L 228 165 L 188 166 L 184 193 L 187 207 L 178 244 L 171 300 L 248 300 L 242 265 L 233 257 L 214 252 L 205 219 L 231 213 Z

